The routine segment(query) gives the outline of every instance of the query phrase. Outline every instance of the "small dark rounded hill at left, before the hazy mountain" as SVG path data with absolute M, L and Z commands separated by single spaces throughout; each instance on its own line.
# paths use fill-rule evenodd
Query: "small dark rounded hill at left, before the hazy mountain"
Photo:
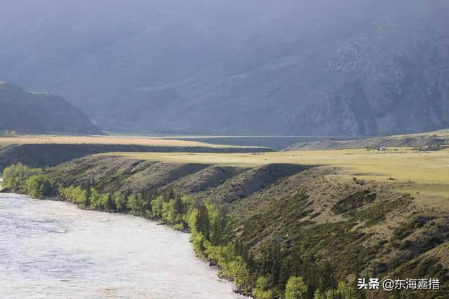
M 62 97 L 0 82 L 0 130 L 20 134 L 103 134 Z

